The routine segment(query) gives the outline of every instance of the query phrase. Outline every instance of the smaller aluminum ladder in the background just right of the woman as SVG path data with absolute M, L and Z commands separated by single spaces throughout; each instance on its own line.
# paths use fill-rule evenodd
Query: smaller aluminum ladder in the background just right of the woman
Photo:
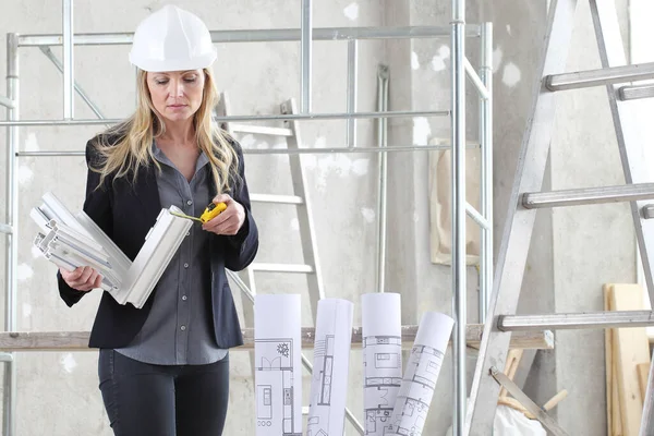
M 298 105 L 294 99 L 288 99 L 280 105 L 280 113 L 283 116 L 299 113 Z M 231 107 L 227 93 L 220 94 L 220 101 L 216 108 L 218 117 L 231 116 Z M 306 175 L 302 168 L 301 154 L 299 153 L 302 140 L 300 136 L 300 122 L 298 120 L 284 120 L 283 128 L 274 128 L 267 125 L 251 125 L 237 124 L 233 122 L 221 122 L 222 129 L 230 135 L 235 133 L 250 133 L 254 135 L 281 136 L 287 138 L 287 148 L 291 171 L 291 180 L 293 185 L 293 195 L 275 195 L 275 194 L 251 194 L 252 204 L 269 203 L 278 205 L 293 205 L 296 207 L 296 217 L 299 225 L 300 239 L 302 244 L 302 254 L 304 264 L 263 264 L 252 263 L 241 279 L 239 275 L 228 271 L 229 278 L 241 289 L 241 302 L 243 305 L 243 317 L 247 326 L 254 326 L 254 296 L 256 295 L 255 272 L 289 272 L 304 274 L 306 276 L 306 284 L 308 291 L 308 300 L 311 312 L 315 322 L 318 313 L 318 300 L 325 298 L 323 288 L 323 276 L 318 262 L 318 253 L 316 247 L 316 237 L 312 218 L 311 201 L 306 195 Z M 250 352 L 251 367 L 254 377 L 254 351 Z M 302 365 L 311 373 L 312 362 L 302 353 Z M 303 414 L 308 413 L 308 407 L 303 407 Z M 363 426 L 354 417 L 349 409 L 346 409 L 346 417 L 352 424 L 354 429 L 363 435 Z

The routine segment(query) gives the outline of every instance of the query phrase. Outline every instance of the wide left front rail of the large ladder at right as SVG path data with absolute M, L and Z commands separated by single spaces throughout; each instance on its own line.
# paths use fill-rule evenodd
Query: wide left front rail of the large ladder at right
M 553 0 L 549 7 L 544 56 L 534 93 L 537 97 L 518 158 L 484 335 L 470 391 L 464 435 L 489 435 L 493 432 L 499 385 L 491 376 L 491 368 L 504 366 L 511 338 L 510 332 L 502 332 L 497 328 L 496 314 L 514 314 L 518 305 L 529 251 L 529 244 L 524 241 L 531 240 L 536 214 L 535 209 L 520 208 L 520 198 L 521 193 L 536 192 L 542 187 L 556 111 L 555 95 L 545 88 L 543 81 L 546 76 L 562 71 L 566 65 L 576 9 L 577 0 Z

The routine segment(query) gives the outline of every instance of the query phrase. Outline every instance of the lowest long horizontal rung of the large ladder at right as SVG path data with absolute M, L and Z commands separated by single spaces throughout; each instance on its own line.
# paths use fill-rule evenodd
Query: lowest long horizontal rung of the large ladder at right
M 652 311 L 500 315 L 497 318 L 497 328 L 502 331 L 646 327 L 654 325 L 654 313 Z

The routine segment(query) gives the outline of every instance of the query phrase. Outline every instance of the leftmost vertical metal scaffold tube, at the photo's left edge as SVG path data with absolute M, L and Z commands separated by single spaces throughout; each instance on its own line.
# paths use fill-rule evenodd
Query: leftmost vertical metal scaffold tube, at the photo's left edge
M 13 101 L 13 108 L 7 110 L 8 121 L 19 119 L 19 36 L 7 35 L 7 96 Z M 19 267 L 19 128 L 7 129 L 7 225 L 12 233 L 7 235 L 7 271 L 4 287 L 4 330 L 15 331 L 16 325 L 16 290 Z M 16 368 L 15 362 L 5 363 L 3 389 L 3 426 L 4 436 L 15 435 L 16 410 Z

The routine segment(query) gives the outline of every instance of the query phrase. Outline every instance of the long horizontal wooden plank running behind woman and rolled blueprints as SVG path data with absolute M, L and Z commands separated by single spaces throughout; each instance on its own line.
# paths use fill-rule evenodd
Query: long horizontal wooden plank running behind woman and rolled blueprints
M 483 324 L 468 326 L 468 346 L 479 348 L 482 340 Z M 254 329 L 244 328 L 244 344 L 234 350 L 254 348 Z M 313 348 L 314 328 L 302 328 L 302 347 Z M 410 350 L 417 326 L 402 326 L 402 348 Z M 2 351 L 88 351 L 88 331 L 19 331 L 0 332 L 0 350 Z M 352 349 L 361 348 L 361 327 L 352 329 Z M 554 349 L 554 335 L 545 331 L 520 331 L 511 335 L 511 348 L 514 349 Z

